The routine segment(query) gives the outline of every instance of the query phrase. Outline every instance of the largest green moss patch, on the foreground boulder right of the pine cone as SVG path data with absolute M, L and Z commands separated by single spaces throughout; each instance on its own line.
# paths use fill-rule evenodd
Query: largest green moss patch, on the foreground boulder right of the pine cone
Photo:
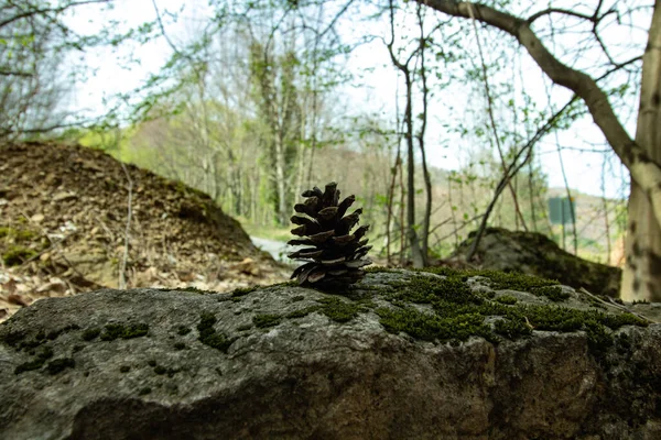
M 377 312 L 383 327 L 392 332 L 405 332 L 423 340 L 463 341 L 469 336 L 483 337 L 498 342 L 499 336 L 518 339 L 530 336 L 532 330 L 560 332 L 585 331 L 588 348 L 599 355 L 613 345 L 611 330 L 621 326 L 646 326 L 647 323 L 630 314 L 607 315 L 598 310 L 577 310 L 551 305 L 521 306 L 516 298 L 501 296 L 494 301 L 474 294 L 465 280 L 468 271 L 440 268 L 446 278 L 414 276 L 410 283 L 398 283 L 395 290 L 383 297 L 394 308 L 380 308 Z M 481 276 L 492 275 L 485 271 L 474 271 Z M 566 299 L 566 294 L 555 282 L 503 274 L 497 277 L 497 287 L 503 287 L 508 277 L 514 276 L 514 284 L 508 288 L 533 292 L 552 299 Z M 541 280 L 540 280 L 541 279 Z M 546 284 L 546 285 L 544 285 Z M 512 301 L 512 299 L 514 301 Z M 420 311 L 411 302 L 430 305 L 432 311 Z M 510 305 L 511 304 L 511 305 Z M 501 317 L 494 329 L 485 324 L 489 317 Z

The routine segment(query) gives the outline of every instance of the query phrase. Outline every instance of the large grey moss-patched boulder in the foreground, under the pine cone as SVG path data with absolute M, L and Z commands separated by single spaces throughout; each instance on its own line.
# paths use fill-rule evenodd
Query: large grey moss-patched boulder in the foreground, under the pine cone
M 41 299 L 0 324 L 0 438 L 661 438 L 661 326 L 620 307 L 448 270 L 342 294 Z

